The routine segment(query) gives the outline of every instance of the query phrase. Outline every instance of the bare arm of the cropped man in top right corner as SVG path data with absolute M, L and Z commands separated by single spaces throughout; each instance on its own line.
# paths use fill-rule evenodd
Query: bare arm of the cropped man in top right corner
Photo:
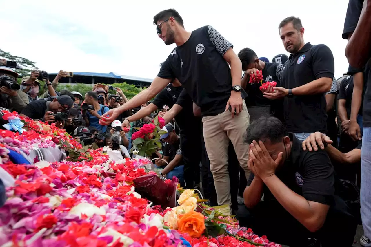
M 365 0 L 367 1 L 367 0 Z M 345 56 L 351 66 L 364 67 L 370 58 L 371 49 L 371 6 L 364 7 L 359 17 L 357 27 L 350 37 Z

